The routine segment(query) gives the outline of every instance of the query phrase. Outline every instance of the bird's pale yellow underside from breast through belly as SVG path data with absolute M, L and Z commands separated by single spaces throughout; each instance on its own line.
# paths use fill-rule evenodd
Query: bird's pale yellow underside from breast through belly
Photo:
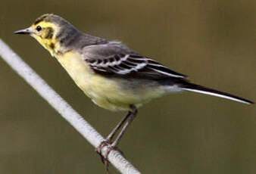
M 58 61 L 67 70 L 76 85 L 100 107 L 108 110 L 129 110 L 130 104 L 137 107 L 151 98 L 161 94 L 151 89 L 123 88 L 122 79 L 111 79 L 95 74 L 79 54 L 67 52 L 64 56 L 56 56 Z

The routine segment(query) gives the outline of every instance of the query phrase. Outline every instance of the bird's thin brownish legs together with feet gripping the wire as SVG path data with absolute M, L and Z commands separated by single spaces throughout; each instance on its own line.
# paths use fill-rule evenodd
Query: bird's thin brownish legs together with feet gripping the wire
M 117 126 L 111 131 L 111 133 L 108 135 L 105 141 L 102 141 L 101 144 L 96 148 L 96 151 L 98 154 L 101 156 L 101 160 L 103 163 L 105 163 L 106 169 L 108 170 L 109 162 L 108 162 L 108 154 L 112 150 L 117 150 L 120 151 L 119 148 L 117 148 L 117 144 L 119 143 L 120 139 L 123 137 L 123 134 L 126 132 L 127 127 L 130 125 L 130 123 L 133 122 L 134 118 L 136 117 L 137 114 L 137 109 L 135 106 L 130 105 L 130 111 L 126 114 L 125 117 L 123 117 L 123 120 L 120 121 L 120 123 L 117 124 Z M 125 123 L 125 121 L 129 118 L 129 120 Z M 115 133 L 117 132 L 118 129 L 125 123 L 123 126 L 123 129 L 120 131 L 119 135 L 117 135 L 117 138 L 114 140 L 113 143 L 111 143 L 111 139 L 114 137 Z M 108 151 L 105 154 L 105 157 L 101 154 L 102 148 L 104 148 L 106 145 L 110 145 L 108 148 Z M 122 151 L 120 151 L 121 154 L 123 154 Z

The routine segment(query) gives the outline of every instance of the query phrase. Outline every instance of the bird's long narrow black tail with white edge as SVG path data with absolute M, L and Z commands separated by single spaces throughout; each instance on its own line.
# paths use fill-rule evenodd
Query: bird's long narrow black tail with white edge
M 198 92 L 198 93 L 201 93 L 201 94 L 204 94 L 204 95 L 214 95 L 214 96 L 217 96 L 219 98 L 226 98 L 226 99 L 233 100 L 233 101 L 238 101 L 238 102 L 241 102 L 241 103 L 244 103 L 244 104 L 254 104 L 253 101 L 249 101 L 245 98 L 240 98 L 236 95 L 230 95 L 229 93 L 220 92 L 220 91 L 217 91 L 215 89 L 209 89 L 209 88 L 204 87 L 202 85 L 196 85 L 196 84 L 193 84 L 193 83 L 190 83 L 190 82 L 186 82 L 180 87 L 182 87 L 184 90 L 189 91 L 189 92 Z

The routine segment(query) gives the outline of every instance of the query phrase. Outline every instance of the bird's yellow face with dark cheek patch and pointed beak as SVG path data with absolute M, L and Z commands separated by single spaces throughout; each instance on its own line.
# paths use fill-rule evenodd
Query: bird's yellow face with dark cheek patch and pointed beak
M 47 49 L 52 56 L 57 54 L 60 45 L 55 39 L 56 34 L 60 30 L 60 27 L 55 23 L 40 21 L 38 23 L 33 23 L 27 29 L 19 30 L 17 34 L 29 34 L 35 38 L 45 49 Z

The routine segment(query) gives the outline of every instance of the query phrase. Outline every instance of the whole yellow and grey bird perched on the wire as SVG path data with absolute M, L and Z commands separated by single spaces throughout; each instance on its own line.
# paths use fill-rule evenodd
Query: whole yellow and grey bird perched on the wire
M 107 110 L 127 112 L 95 150 L 107 169 L 108 154 L 119 149 L 117 145 L 136 117 L 138 108 L 151 99 L 176 92 L 196 92 L 254 104 L 248 99 L 190 82 L 188 76 L 133 51 L 121 42 L 77 30 L 56 14 L 43 14 L 30 27 L 14 33 L 36 39 L 94 104 Z M 103 155 L 105 146 L 110 148 Z

